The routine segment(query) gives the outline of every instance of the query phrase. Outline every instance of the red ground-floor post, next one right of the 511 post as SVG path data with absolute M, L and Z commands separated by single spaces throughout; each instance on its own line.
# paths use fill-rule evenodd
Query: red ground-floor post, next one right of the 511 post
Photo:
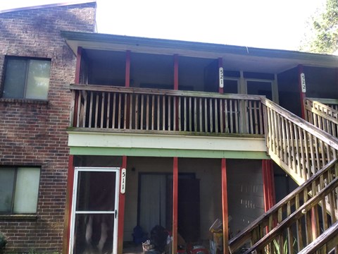
M 178 158 L 173 158 L 173 253 L 177 253 Z

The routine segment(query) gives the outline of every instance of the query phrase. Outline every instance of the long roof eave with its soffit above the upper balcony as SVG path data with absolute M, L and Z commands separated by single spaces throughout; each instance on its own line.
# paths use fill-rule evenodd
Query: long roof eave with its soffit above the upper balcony
M 77 47 L 82 47 L 149 54 L 179 54 L 207 59 L 223 58 L 223 66 L 227 70 L 265 73 L 281 73 L 299 64 L 326 68 L 338 66 L 338 56 L 324 54 L 86 32 L 61 31 L 61 35 L 65 37 L 74 54 L 77 54 Z

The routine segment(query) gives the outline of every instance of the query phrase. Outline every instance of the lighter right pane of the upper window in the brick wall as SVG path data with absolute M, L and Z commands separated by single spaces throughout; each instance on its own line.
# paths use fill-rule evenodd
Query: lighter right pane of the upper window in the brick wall
M 51 62 L 30 60 L 27 73 L 27 99 L 47 99 Z

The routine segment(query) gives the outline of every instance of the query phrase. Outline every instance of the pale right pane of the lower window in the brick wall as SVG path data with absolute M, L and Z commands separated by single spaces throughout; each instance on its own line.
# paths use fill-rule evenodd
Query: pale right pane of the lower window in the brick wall
M 39 168 L 18 168 L 15 184 L 15 213 L 37 212 L 37 195 L 39 192 Z

